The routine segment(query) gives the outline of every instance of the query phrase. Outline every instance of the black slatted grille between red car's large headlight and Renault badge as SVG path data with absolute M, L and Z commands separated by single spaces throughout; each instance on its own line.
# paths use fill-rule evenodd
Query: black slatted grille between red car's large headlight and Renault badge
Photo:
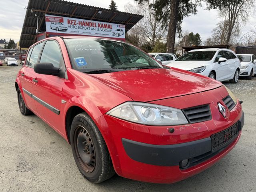
M 209 105 L 201 105 L 182 110 L 189 123 L 198 123 L 212 119 Z

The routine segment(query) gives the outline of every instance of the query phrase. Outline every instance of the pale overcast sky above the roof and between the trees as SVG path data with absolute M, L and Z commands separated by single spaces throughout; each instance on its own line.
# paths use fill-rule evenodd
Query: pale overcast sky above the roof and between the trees
M 111 0 L 69 0 L 76 3 L 87 4 L 102 8 L 108 8 Z M 136 4 L 134 0 L 115 0 L 118 10 L 124 11 L 124 5 L 128 2 Z M 19 41 L 24 17 L 25 6 L 28 0 L 0 0 L 0 39 L 14 39 Z M 184 18 L 182 30 L 199 33 L 202 40 L 206 40 L 211 35 L 212 29 L 221 20 L 218 18 L 217 10 L 204 10 L 205 7 L 198 8 L 198 13 Z M 256 25 L 255 16 L 252 16 L 248 24 L 242 28 L 242 34 L 249 32 Z

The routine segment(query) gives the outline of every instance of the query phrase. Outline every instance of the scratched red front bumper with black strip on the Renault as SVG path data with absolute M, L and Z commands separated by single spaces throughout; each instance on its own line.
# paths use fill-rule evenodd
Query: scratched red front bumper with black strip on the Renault
M 146 126 L 107 114 L 96 119 L 116 173 L 143 182 L 174 183 L 212 166 L 234 148 L 244 124 L 244 114 L 239 102 L 231 111 L 227 111 L 227 118 L 220 114 L 217 103 L 224 105 L 221 100 L 226 94 L 228 93 L 222 86 L 207 92 L 151 102 L 165 106 L 170 106 L 171 103 L 174 108 L 188 108 L 209 103 L 210 100 L 212 119 L 204 122 L 180 126 Z M 212 153 L 209 138 L 236 122 L 240 123 L 237 136 L 227 146 Z M 168 132 L 170 128 L 175 131 Z M 195 160 L 198 157 L 201 161 L 180 168 L 180 160 Z

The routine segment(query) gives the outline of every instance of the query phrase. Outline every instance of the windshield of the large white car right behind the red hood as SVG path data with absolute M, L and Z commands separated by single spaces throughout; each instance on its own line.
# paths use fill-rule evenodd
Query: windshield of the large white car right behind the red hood
M 180 56 L 176 61 L 210 61 L 216 51 L 192 51 Z

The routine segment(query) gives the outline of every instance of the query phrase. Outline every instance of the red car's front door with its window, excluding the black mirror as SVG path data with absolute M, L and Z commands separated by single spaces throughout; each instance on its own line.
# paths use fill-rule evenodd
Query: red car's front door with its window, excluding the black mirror
M 40 62 L 52 63 L 55 67 L 66 70 L 60 46 L 56 40 L 47 40 Z M 44 119 L 53 128 L 60 131 L 62 109 L 62 87 L 65 79 L 53 75 L 36 74 L 37 83 L 34 88 L 34 95 L 36 96 L 36 108 L 39 116 Z M 60 131 L 63 133 L 63 131 Z

